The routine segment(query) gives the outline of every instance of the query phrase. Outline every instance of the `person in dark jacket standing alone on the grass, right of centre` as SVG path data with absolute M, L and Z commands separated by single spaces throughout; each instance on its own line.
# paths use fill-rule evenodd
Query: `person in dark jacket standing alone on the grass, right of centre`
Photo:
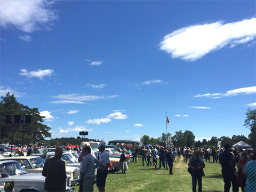
M 202 176 L 204 176 L 204 159 L 199 157 L 199 152 L 194 151 L 194 155 L 189 159 L 188 166 L 192 169 L 192 191 L 196 191 L 196 184 L 198 183 L 198 191 L 202 191 Z

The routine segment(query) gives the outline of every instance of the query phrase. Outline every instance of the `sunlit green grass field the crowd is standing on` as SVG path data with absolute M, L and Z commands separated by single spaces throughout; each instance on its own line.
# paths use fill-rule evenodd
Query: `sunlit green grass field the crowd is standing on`
M 192 191 L 192 179 L 183 157 L 177 163 L 173 162 L 173 175 L 169 171 L 154 170 L 154 166 L 142 166 L 142 158 L 128 166 L 126 174 L 122 174 L 122 171 L 108 174 L 106 191 Z M 220 164 L 205 162 L 204 173 L 203 191 L 224 190 Z M 79 186 L 74 188 L 77 192 Z M 96 184 L 94 191 L 98 191 Z

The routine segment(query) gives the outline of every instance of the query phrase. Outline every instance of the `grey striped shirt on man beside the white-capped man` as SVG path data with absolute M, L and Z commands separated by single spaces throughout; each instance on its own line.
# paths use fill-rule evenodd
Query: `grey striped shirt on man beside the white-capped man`
M 85 179 L 87 177 L 94 177 L 94 169 L 96 169 L 100 164 L 101 163 L 91 154 L 87 154 L 83 158 L 83 166 L 82 170 L 80 170 L 80 178 Z

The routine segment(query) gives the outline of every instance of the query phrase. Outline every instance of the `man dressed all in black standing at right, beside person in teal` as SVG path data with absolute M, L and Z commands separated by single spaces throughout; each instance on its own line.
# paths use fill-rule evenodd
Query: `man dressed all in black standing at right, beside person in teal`
M 221 164 L 221 172 L 223 175 L 223 181 L 224 184 L 224 191 L 229 191 L 232 183 L 232 190 L 238 191 L 238 185 L 237 185 L 237 178 L 234 172 L 235 169 L 235 163 L 234 158 L 230 153 L 230 145 L 226 144 L 224 146 L 225 150 L 220 155 L 219 163 Z

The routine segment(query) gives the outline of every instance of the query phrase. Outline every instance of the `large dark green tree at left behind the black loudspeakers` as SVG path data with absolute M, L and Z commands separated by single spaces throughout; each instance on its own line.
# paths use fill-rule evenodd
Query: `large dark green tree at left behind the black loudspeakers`
M 24 106 L 21 103 L 17 102 L 14 97 L 14 94 L 10 95 L 8 92 L 6 97 L 1 97 L 3 100 L 0 102 L 1 107 L 1 135 L 0 139 L 2 142 L 11 143 L 12 140 L 12 124 L 5 123 L 5 115 L 31 115 L 32 121 L 31 124 L 25 125 L 24 139 L 23 142 L 27 145 L 31 142 L 33 143 L 44 143 L 45 138 L 51 137 L 50 127 L 42 124 L 43 117 L 39 115 L 38 108 L 29 108 Z M 19 145 L 22 142 L 22 124 L 15 124 L 14 126 L 14 137 L 13 143 Z

